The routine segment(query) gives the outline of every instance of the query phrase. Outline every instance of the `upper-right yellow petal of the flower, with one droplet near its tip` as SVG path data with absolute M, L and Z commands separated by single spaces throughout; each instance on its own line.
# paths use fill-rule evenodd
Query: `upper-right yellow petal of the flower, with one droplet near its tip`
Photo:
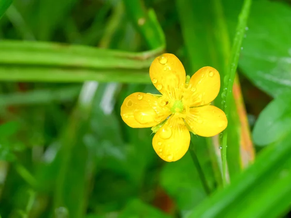
M 219 93 L 220 76 L 213 67 L 202 67 L 190 79 L 183 103 L 189 107 L 209 104 Z

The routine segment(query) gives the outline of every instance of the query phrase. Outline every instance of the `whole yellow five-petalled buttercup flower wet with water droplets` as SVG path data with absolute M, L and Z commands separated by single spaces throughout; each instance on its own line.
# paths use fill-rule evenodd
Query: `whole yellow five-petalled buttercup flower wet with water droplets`
M 149 76 L 162 95 L 132 93 L 121 106 L 123 121 L 132 128 L 152 127 L 153 147 L 165 161 L 185 155 L 190 132 L 210 137 L 227 126 L 225 113 L 210 102 L 218 95 L 220 76 L 212 67 L 202 67 L 190 78 L 173 54 L 157 57 Z

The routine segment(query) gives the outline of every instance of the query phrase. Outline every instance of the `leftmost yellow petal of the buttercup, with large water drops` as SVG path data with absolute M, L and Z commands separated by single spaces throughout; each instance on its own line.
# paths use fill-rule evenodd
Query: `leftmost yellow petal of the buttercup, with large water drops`
M 152 127 L 170 115 L 163 97 L 148 93 L 132 93 L 121 106 L 122 120 L 132 128 Z

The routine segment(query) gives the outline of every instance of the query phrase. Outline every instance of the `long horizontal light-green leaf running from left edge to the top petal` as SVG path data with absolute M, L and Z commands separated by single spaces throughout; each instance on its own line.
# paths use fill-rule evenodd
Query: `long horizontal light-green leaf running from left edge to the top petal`
M 0 41 L 0 79 L 149 83 L 148 67 L 161 49 L 134 53 L 42 42 Z

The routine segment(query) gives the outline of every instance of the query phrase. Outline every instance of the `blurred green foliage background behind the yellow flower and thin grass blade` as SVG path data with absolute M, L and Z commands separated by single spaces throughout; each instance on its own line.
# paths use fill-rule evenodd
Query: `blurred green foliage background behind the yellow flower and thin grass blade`
M 2 218 L 288 217 L 290 0 L 251 5 L 228 103 L 229 187 L 221 136 L 193 135 L 196 156 L 167 163 L 150 128 L 120 117 L 130 93 L 158 93 L 148 69 L 165 52 L 190 76 L 215 67 L 223 86 L 242 4 L 14 0 L 0 19 Z

